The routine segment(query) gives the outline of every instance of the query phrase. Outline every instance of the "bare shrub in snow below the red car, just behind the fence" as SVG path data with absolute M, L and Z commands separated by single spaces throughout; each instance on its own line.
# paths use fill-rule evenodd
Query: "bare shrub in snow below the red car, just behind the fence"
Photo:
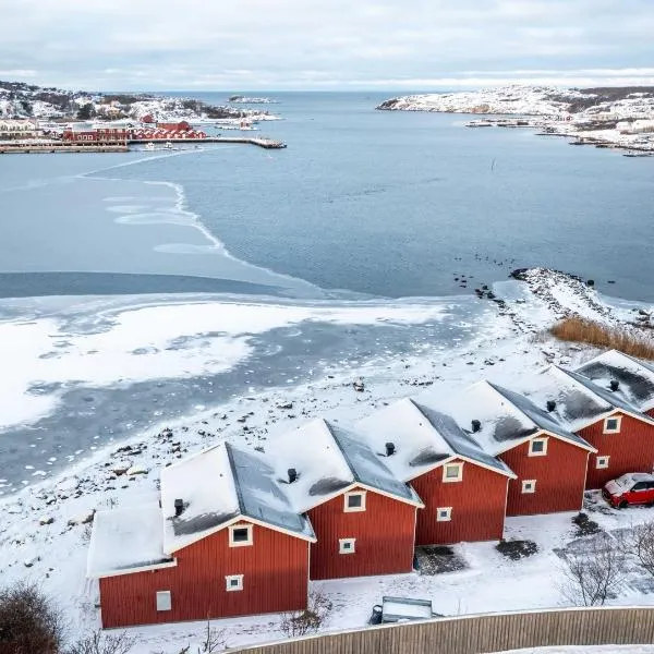
M 625 581 L 625 549 L 603 534 L 585 552 L 571 554 L 562 571 L 565 581 L 560 592 L 568 602 L 576 606 L 602 606 Z

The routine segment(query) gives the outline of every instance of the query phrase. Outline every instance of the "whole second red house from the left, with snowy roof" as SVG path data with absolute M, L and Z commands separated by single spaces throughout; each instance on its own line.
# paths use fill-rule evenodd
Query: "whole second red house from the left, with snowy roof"
M 271 444 L 278 479 L 316 534 L 311 579 L 413 570 L 416 494 L 364 439 L 315 420 Z

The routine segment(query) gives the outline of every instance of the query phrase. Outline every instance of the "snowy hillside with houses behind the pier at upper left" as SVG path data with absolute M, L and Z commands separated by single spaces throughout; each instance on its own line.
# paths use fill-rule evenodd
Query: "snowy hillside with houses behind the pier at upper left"
M 267 111 L 209 105 L 192 97 L 63 90 L 0 81 L 0 119 L 143 121 L 198 119 L 274 120 Z M 147 122 L 147 120 L 146 120 Z

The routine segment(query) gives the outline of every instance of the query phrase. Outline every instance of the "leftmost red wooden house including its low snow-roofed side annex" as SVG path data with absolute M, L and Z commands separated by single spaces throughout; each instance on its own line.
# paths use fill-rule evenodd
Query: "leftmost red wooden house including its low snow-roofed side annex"
M 259 457 L 219 445 L 161 471 L 159 502 L 96 513 L 102 627 L 306 607 L 311 523 Z

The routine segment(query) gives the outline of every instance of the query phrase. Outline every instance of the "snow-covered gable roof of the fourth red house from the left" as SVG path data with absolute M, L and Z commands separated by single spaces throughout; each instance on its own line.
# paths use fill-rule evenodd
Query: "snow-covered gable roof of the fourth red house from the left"
M 497 456 L 540 432 L 593 450 L 583 438 L 566 429 L 526 397 L 489 382 L 479 382 L 448 398 L 447 411 L 489 453 Z M 472 422 L 479 421 L 479 431 Z

